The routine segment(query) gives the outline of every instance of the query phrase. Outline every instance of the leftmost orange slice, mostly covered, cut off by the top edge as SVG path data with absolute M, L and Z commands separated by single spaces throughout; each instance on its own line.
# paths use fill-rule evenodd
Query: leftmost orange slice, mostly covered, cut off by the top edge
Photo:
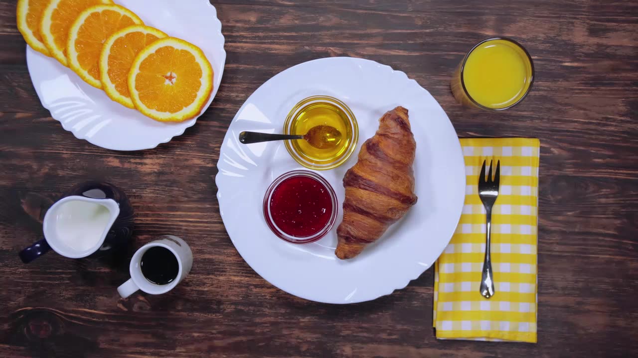
M 42 13 L 48 3 L 49 0 L 18 0 L 16 15 L 18 29 L 24 37 L 24 41 L 27 41 L 34 50 L 50 56 L 40 34 Z

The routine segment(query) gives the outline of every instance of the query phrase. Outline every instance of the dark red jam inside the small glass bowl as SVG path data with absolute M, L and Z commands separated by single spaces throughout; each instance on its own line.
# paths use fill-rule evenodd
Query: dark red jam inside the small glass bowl
M 281 231 L 304 238 L 326 226 L 332 216 L 332 198 L 318 180 L 292 176 L 272 192 L 270 210 L 272 221 Z

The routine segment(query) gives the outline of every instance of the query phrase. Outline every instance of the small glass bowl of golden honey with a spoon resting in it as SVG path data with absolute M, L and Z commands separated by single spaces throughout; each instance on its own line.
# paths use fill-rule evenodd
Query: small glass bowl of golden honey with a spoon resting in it
M 284 134 L 306 134 L 318 125 L 329 125 L 341 132 L 341 138 L 330 148 L 316 148 L 305 140 L 286 141 L 288 153 L 308 169 L 327 170 L 348 160 L 357 147 L 359 125 L 350 108 L 330 96 L 302 99 L 288 113 Z

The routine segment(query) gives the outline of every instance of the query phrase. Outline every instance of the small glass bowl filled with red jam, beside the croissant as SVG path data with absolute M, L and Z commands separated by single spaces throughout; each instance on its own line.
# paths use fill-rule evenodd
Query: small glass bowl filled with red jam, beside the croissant
M 311 171 L 279 176 L 263 197 L 263 217 L 272 232 L 289 243 L 312 243 L 327 234 L 337 218 L 337 196 Z

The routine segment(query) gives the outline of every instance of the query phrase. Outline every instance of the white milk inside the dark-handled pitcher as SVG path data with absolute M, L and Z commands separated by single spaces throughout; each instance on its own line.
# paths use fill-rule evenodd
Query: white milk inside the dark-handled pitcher
M 89 250 L 103 240 L 111 213 L 100 203 L 68 201 L 56 212 L 56 235 L 66 247 L 77 252 Z

